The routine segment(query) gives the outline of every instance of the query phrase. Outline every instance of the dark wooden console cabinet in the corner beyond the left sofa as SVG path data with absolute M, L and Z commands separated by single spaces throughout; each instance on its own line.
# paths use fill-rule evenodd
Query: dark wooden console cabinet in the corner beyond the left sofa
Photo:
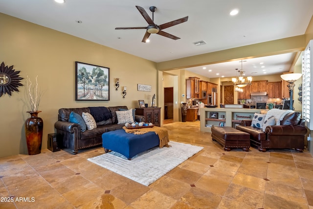
M 161 126 L 160 107 L 136 108 L 135 114 L 138 116 L 145 116 L 146 123 L 153 123 L 156 126 Z

